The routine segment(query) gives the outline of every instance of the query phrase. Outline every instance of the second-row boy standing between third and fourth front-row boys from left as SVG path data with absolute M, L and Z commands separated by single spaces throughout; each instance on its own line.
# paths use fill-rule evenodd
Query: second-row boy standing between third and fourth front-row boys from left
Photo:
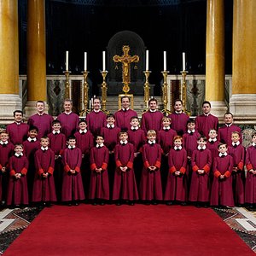
M 85 197 L 89 195 L 90 187 L 90 148 L 93 147 L 93 135 L 87 130 L 87 123 L 84 119 L 79 120 L 79 131 L 74 134 L 77 147 L 82 151 L 81 175 L 84 184 Z

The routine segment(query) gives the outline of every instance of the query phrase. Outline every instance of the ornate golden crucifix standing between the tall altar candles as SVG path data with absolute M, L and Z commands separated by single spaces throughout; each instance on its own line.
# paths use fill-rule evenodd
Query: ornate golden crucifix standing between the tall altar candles
M 129 45 L 124 45 L 123 46 L 123 52 L 124 54 L 122 56 L 119 55 L 114 55 L 113 56 L 113 61 L 114 62 L 121 62 L 123 65 L 123 91 L 125 94 L 129 92 L 130 87 L 129 84 L 131 83 L 130 80 L 130 66 L 132 62 L 138 62 L 140 60 L 138 55 L 129 55 L 129 50 L 130 47 Z

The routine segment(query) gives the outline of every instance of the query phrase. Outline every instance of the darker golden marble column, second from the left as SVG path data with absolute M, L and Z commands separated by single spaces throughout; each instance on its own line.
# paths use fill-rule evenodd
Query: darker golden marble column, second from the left
M 27 102 L 26 118 L 37 101 L 46 102 L 46 49 L 44 0 L 27 1 Z

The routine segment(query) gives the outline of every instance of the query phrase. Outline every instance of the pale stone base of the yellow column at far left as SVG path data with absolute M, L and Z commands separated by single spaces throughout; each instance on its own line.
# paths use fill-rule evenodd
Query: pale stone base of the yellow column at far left
M 19 95 L 0 94 L 0 125 L 8 125 L 14 122 L 14 111 L 22 109 Z

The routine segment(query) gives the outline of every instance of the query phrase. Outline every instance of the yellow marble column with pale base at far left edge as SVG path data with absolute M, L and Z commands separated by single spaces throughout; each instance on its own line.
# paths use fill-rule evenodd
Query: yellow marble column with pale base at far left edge
M 0 124 L 13 120 L 15 109 L 22 108 L 19 96 L 18 1 L 0 4 Z

